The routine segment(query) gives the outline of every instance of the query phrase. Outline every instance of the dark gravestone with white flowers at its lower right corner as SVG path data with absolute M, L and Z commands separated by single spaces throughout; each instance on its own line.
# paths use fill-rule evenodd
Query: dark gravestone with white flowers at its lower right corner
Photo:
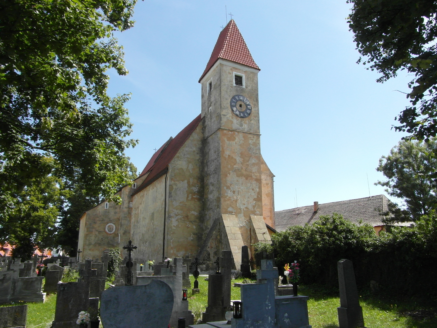
M 59 283 L 57 286 L 55 320 L 52 328 L 77 327 L 80 311 L 88 311 L 90 291 L 87 283 Z

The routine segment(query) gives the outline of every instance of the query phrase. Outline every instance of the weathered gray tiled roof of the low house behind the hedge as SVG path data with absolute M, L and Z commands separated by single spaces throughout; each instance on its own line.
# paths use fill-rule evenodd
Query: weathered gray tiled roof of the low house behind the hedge
M 304 226 L 305 223 L 313 223 L 321 215 L 332 215 L 333 213 L 342 214 L 346 220 L 358 223 L 369 223 L 372 226 L 383 225 L 382 212 L 387 211 L 390 200 L 384 195 L 371 196 L 366 198 L 343 200 L 319 204 L 319 209 L 314 212 L 314 206 L 302 206 L 294 209 L 284 209 L 274 213 L 275 229 L 284 231 L 291 226 Z

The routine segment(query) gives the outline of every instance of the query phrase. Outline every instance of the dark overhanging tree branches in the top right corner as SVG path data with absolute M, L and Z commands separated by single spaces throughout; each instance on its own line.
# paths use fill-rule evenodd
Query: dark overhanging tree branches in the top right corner
M 406 70 L 414 77 L 411 106 L 396 118 L 398 131 L 417 140 L 437 133 L 437 1 L 348 0 L 348 17 L 361 56 L 358 63 L 381 73 L 378 82 Z

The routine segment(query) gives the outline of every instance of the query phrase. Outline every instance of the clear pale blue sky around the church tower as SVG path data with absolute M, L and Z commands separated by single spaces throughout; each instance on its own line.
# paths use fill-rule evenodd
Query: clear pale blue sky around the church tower
M 261 153 L 275 174 L 275 209 L 385 193 L 378 160 L 403 136 L 391 130 L 409 104 L 406 73 L 384 84 L 356 63 L 340 1 L 146 0 L 118 33 L 129 74 L 113 70 L 109 93 L 126 104 L 140 143 L 126 154 L 139 171 L 201 111 L 198 79 L 233 14 L 260 66 Z M 228 16 L 228 19 L 230 17 Z M 399 91 L 396 91 L 399 90 Z M 369 181 L 369 187 L 367 182 Z

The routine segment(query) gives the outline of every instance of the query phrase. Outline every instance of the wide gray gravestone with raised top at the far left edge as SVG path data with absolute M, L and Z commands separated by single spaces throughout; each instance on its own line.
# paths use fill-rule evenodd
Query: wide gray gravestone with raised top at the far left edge
M 19 277 L 22 263 L 8 260 L 5 270 L 0 271 L 0 304 L 9 302 L 44 302 L 42 293 L 44 277 Z

